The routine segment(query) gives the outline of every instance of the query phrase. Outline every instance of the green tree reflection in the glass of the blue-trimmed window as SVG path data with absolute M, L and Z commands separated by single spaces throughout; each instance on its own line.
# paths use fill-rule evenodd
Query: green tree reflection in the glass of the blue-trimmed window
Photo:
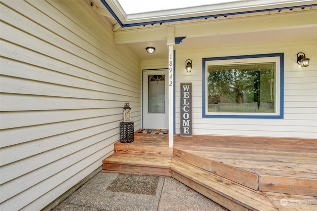
M 208 104 L 272 102 L 274 62 L 208 66 Z

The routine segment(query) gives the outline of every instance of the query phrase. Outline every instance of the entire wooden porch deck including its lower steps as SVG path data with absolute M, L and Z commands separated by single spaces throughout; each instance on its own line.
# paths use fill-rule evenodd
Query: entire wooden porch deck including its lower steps
M 172 176 L 229 210 L 317 210 L 317 140 L 135 133 L 104 172 Z

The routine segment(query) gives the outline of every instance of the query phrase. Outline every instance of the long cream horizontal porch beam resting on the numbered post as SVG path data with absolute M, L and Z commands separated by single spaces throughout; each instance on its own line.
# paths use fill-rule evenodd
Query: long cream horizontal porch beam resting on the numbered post
M 115 43 L 153 42 L 167 39 L 167 27 L 175 27 L 175 37 L 197 38 L 287 29 L 317 29 L 317 9 L 305 12 L 261 15 L 233 19 L 169 24 L 159 27 L 114 32 Z

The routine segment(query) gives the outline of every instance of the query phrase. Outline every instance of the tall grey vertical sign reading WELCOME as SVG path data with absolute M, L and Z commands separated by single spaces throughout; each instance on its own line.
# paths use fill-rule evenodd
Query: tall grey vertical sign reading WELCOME
M 180 136 L 192 137 L 192 83 L 181 83 L 180 95 Z

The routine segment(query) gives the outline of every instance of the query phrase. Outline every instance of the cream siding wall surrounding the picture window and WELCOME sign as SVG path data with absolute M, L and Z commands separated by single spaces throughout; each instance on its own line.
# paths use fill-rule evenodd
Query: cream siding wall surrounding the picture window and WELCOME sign
M 310 36 L 310 35 L 307 35 Z M 202 58 L 284 53 L 284 118 L 202 118 Z M 311 58 L 309 67 L 296 64 L 296 54 L 305 52 Z M 180 128 L 180 83 L 193 83 L 193 134 L 241 135 L 264 137 L 317 138 L 317 41 L 202 48 L 176 51 L 175 125 Z M 186 59 L 193 60 L 190 74 L 184 69 Z M 190 75 L 190 77 L 188 77 Z

